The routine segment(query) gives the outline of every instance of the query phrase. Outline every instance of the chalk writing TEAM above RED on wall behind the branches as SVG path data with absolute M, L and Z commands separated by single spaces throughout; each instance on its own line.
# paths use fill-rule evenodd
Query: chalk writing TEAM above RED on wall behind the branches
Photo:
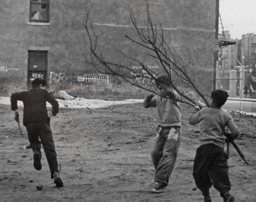
M 148 65 L 147 68 L 159 69 L 157 65 Z M 147 71 L 145 71 L 145 69 L 143 69 L 142 66 L 132 66 L 131 69 L 133 69 L 133 71 L 131 71 L 131 74 L 136 77 L 134 81 L 135 83 L 150 84 L 154 82 L 154 80 L 151 78 L 149 74 L 147 74 Z M 135 71 L 138 71 L 138 73 L 135 73 Z M 156 75 L 154 74 L 154 76 Z

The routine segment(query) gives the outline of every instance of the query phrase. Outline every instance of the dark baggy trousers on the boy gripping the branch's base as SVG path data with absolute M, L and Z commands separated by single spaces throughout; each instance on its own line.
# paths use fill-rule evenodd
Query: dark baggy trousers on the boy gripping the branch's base
M 212 143 L 199 146 L 195 155 L 193 177 L 195 184 L 204 196 L 209 194 L 212 184 L 221 196 L 227 193 L 231 189 L 231 183 L 224 150 Z

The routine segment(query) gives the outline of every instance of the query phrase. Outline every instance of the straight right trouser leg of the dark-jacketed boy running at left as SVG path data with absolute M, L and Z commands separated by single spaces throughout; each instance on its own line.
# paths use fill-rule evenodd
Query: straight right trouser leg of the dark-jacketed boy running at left
M 45 122 L 40 122 L 40 140 L 42 141 L 42 146 L 51 170 L 51 178 L 53 178 L 54 171 L 58 172 L 57 153 L 52 138 L 51 128 Z

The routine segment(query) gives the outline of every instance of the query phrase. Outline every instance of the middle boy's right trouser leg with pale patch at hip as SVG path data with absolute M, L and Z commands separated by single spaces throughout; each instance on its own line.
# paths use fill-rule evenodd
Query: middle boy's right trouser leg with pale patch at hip
M 180 127 L 164 127 L 161 134 L 165 136 L 166 142 L 162 150 L 162 158 L 155 170 L 155 182 L 168 184 L 180 147 L 181 129 Z

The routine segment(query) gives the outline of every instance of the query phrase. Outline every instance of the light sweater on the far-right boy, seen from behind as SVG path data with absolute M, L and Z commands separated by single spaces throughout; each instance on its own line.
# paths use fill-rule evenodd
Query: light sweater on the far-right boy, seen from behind
M 200 128 L 200 145 L 213 143 L 224 148 L 224 129 L 226 126 L 228 126 L 231 136 L 234 138 L 240 133 L 231 115 L 222 109 L 205 107 L 193 114 L 188 122 L 192 125 L 202 122 Z

